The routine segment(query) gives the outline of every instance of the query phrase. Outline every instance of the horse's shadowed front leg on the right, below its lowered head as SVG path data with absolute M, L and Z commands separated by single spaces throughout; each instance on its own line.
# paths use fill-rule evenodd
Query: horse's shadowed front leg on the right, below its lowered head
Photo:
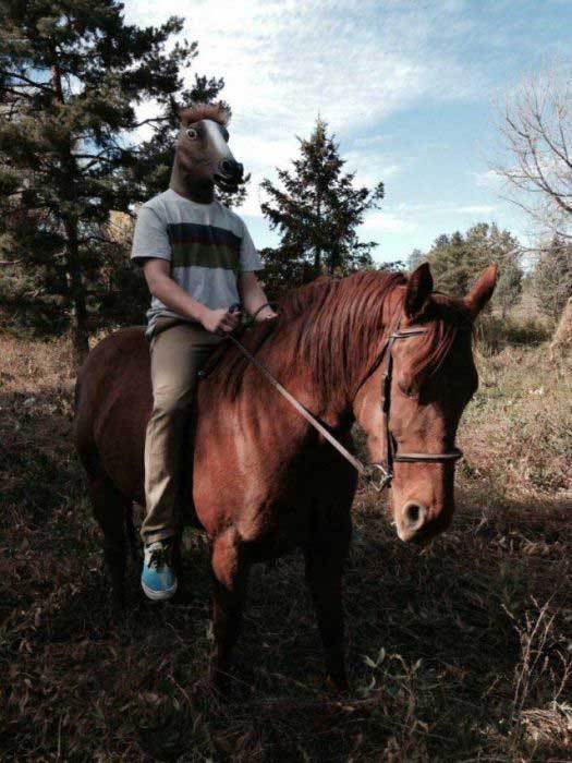
M 327 525 L 326 525 L 327 526 Z M 351 536 L 348 516 L 338 528 L 320 529 L 305 549 L 306 582 L 312 593 L 326 654 L 328 679 L 339 691 L 348 689 L 344 656 L 342 574 Z

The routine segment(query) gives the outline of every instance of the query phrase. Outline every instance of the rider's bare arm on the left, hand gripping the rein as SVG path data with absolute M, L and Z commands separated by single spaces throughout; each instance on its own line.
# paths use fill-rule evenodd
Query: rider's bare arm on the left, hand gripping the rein
M 228 334 L 236 327 L 240 314 L 229 313 L 228 310 L 210 310 L 194 300 L 173 281 L 168 261 L 158 257 L 145 259 L 143 272 L 151 294 L 174 313 L 197 320 L 212 334 Z

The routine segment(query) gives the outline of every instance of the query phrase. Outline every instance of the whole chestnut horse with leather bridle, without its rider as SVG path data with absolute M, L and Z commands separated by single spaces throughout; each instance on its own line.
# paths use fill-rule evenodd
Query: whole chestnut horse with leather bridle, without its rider
M 470 329 L 495 281 L 490 266 L 453 300 L 433 292 L 427 265 L 409 280 L 387 272 L 319 280 L 293 291 L 278 319 L 243 339 L 338 439 L 348 443 L 357 420 L 373 461 L 387 463 L 393 453 L 391 502 L 402 540 L 426 541 L 451 520 L 455 432 L 477 387 Z M 400 340 L 390 341 L 397 328 Z M 193 494 L 182 496 L 182 510 L 211 543 L 214 676 L 220 680 L 229 667 L 250 566 L 302 547 L 328 673 L 343 688 L 341 581 L 356 474 L 235 348 L 220 353 L 199 387 L 196 445 L 190 431 L 183 464 L 193 472 Z M 143 329 L 123 329 L 93 350 L 76 387 L 76 445 L 115 604 L 126 518 L 133 501 L 144 501 L 150 409 Z

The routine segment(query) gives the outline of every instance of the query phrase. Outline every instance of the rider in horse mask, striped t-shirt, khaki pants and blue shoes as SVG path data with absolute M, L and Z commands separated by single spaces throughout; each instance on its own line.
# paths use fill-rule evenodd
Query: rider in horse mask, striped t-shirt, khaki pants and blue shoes
M 155 601 L 177 591 L 172 538 L 197 374 L 236 327 L 233 304 L 242 302 L 256 320 L 275 317 L 256 278 L 261 262 L 246 226 L 215 198 L 215 184 L 233 191 L 243 180 L 228 146 L 229 113 L 220 104 L 199 104 L 180 118 L 169 190 L 142 206 L 131 255 L 151 293 L 146 337 L 154 402 L 145 438 L 141 582 Z

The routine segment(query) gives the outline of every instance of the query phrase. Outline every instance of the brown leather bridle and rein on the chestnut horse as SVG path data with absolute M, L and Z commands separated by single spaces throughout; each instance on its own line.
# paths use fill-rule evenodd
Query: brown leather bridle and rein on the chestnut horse
M 267 305 L 263 305 L 266 307 Z M 231 308 L 232 310 L 232 308 Z M 261 310 L 261 307 L 259 308 Z M 256 311 L 257 313 L 259 312 Z M 256 315 L 256 314 L 255 314 Z M 252 316 L 254 320 L 255 316 Z M 329 429 L 316 419 L 299 400 L 296 400 L 293 395 L 291 395 L 285 387 L 283 387 L 280 382 L 278 382 L 270 371 L 260 363 L 245 347 L 236 339 L 232 334 L 227 335 L 227 338 L 242 352 L 242 354 L 263 374 L 263 376 L 272 385 L 272 387 L 283 397 L 288 402 L 302 415 L 308 424 L 311 424 L 319 434 L 328 440 L 328 443 L 336 448 L 336 450 L 343 456 L 343 458 L 352 464 L 352 467 L 357 471 L 358 474 L 364 476 L 369 484 L 377 491 L 381 492 L 386 487 L 389 487 L 393 479 L 393 463 L 447 463 L 459 461 L 463 457 L 462 450 L 459 448 L 453 448 L 452 450 L 446 450 L 440 453 L 400 453 L 397 451 L 394 445 L 394 438 L 391 434 L 390 428 L 390 407 L 391 407 L 391 379 L 393 374 L 393 355 L 392 349 L 395 341 L 399 339 L 407 339 L 409 337 L 418 336 L 422 334 L 427 334 L 428 329 L 425 328 L 399 328 L 392 331 L 388 339 L 385 341 L 384 347 L 376 356 L 376 360 L 372 364 L 370 368 L 360 382 L 355 395 L 360 391 L 363 385 L 372 376 L 372 374 L 380 366 L 384 360 L 387 358 L 386 372 L 381 379 L 381 399 L 380 407 L 384 412 L 385 419 L 385 429 L 386 429 L 386 462 L 375 462 L 366 464 L 351 453 L 348 448 L 345 448 Z M 355 396 L 354 396 L 355 397 Z

